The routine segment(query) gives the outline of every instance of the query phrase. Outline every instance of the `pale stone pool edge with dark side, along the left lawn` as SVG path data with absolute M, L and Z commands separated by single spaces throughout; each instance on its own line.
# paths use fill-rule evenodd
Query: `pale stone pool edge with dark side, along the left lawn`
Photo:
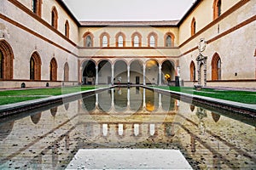
M 43 99 L 32 99 L 32 100 L 22 101 L 14 104 L 0 105 L 0 118 L 19 114 L 24 111 L 32 111 L 47 105 L 62 105 L 66 102 L 70 102 L 75 99 L 80 99 L 89 94 L 96 94 L 98 92 L 102 92 L 109 88 L 113 88 L 113 87 L 96 88 L 96 89 L 76 92 L 73 94 L 62 94 L 62 95 L 51 96 Z

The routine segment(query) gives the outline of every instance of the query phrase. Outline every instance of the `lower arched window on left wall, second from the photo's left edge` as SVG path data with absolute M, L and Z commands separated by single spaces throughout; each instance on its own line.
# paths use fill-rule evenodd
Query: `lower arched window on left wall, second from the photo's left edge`
M 41 59 L 37 52 L 30 58 L 30 80 L 41 80 Z

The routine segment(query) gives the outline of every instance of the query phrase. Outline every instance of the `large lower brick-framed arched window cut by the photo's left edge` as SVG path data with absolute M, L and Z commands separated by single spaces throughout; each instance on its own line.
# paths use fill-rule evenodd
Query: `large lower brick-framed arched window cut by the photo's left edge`
M 13 79 L 14 53 L 4 39 L 0 39 L 0 78 Z

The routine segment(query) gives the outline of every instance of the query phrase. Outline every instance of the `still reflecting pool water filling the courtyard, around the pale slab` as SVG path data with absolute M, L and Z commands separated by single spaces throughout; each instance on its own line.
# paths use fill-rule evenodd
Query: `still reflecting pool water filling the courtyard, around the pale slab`
M 79 149 L 94 148 L 176 149 L 194 169 L 255 169 L 256 128 L 144 88 L 0 122 L 0 169 L 65 169 Z

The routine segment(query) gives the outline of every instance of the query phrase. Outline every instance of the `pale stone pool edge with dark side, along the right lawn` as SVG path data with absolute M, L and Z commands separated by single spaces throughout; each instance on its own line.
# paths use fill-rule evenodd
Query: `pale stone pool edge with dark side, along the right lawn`
M 196 104 L 204 107 L 206 106 L 212 106 L 212 108 L 215 109 L 222 109 L 225 111 L 230 111 L 232 113 L 238 113 L 244 116 L 253 116 L 256 117 L 256 105 L 250 105 L 250 104 L 243 104 L 240 102 L 230 101 L 230 100 L 224 100 L 224 99 L 215 99 L 195 94 L 185 94 L 182 92 L 175 92 L 171 90 L 166 89 L 160 89 L 160 88 L 152 88 L 148 86 L 142 86 L 143 88 L 152 89 L 154 91 L 163 93 L 163 94 L 172 94 L 174 97 L 181 99 L 185 102 L 191 102 L 191 104 Z M 206 109 L 209 109 L 209 107 L 206 107 Z

